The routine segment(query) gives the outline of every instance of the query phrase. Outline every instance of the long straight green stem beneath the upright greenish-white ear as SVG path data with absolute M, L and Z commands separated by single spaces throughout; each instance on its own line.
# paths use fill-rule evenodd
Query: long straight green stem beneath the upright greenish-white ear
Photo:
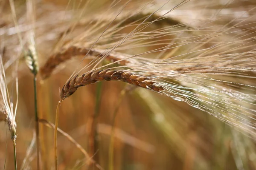
M 36 77 L 34 74 L 34 102 L 35 102 L 35 134 L 36 134 L 36 153 L 37 153 L 37 169 L 40 170 L 40 140 L 39 140 L 39 123 L 38 123 L 38 108 L 37 108 L 37 91 Z

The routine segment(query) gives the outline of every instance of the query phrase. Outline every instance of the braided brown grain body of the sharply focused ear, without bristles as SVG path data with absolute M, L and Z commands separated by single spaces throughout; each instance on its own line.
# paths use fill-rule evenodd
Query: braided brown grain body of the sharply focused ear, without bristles
M 119 80 L 122 82 L 127 82 L 131 85 L 136 85 L 157 92 L 160 92 L 164 89 L 163 86 L 161 86 L 158 82 L 155 82 L 148 77 L 136 75 L 129 71 L 102 70 L 90 72 L 88 74 L 83 74 L 81 76 L 76 76 L 70 79 L 61 89 L 61 100 L 71 96 L 81 86 L 90 85 L 92 83 L 103 80 Z

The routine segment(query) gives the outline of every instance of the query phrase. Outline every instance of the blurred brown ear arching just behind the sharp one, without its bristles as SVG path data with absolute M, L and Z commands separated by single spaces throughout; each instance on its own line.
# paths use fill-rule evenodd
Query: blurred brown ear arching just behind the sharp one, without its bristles
M 58 51 L 57 53 L 53 54 L 49 57 L 47 62 L 40 68 L 40 74 L 43 79 L 48 78 L 52 71 L 61 63 L 66 62 L 67 60 L 71 59 L 72 57 L 78 56 L 78 55 L 86 55 L 87 56 L 94 56 L 94 57 L 105 57 L 105 59 L 116 62 L 120 59 L 119 54 L 115 54 L 113 52 L 109 54 L 104 54 L 104 51 L 92 48 L 86 48 L 83 46 L 69 46 L 62 48 L 61 51 Z M 122 59 L 122 61 L 119 62 L 120 65 L 127 65 L 129 63 L 128 60 Z

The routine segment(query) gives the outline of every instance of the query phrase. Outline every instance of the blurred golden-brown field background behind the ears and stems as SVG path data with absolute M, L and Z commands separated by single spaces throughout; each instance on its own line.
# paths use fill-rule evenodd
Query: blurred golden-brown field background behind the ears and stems
M 26 31 L 29 30 L 26 29 L 26 26 L 29 25 L 29 21 L 26 20 L 28 2 L 15 0 L 17 19 L 20 29 L 24 33 L 24 41 L 26 41 Z M 118 12 L 116 9 L 127 2 L 121 0 L 115 8 L 111 8 L 109 14 L 105 15 L 106 22 L 104 21 L 104 23 L 111 22 Z M 146 16 L 145 13 L 151 14 L 165 2 L 164 0 L 131 1 L 126 8 L 127 11 L 123 12 L 124 16 L 146 3 L 154 4 L 154 6 L 148 8 L 148 11 L 143 11 L 142 15 L 137 15 L 137 18 L 122 24 L 125 25 L 143 18 Z M 181 0 L 172 0 L 162 10 L 170 9 L 181 2 Z M 35 42 L 39 66 L 42 66 L 56 50 L 61 34 L 72 26 L 71 23 L 79 21 L 79 24 L 71 31 L 70 40 L 81 34 L 83 29 L 87 29 L 85 26 L 95 24 L 90 23 L 90 19 L 93 20 L 98 15 L 102 17 L 102 14 L 108 11 L 108 7 L 115 3 L 117 2 L 111 0 L 34 1 L 34 17 L 38 24 L 35 28 Z M 86 8 L 83 8 L 84 6 Z M 174 10 L 166 17 L 166 20 L 151 24 L 147 31 L 188 22 L 191 23 L 185 27 L 175 27 L 174 31 L 182 31 L 202 23 L 205 24 L 205 29 L 210 25 L 223 26 L 237 17 L 239 12 L 246 11 L 248 11 L 247 17 L 250 18 L 247 21 L 255 23 L 255 7 L 254 0 L 228 2 L 190 0 Z M 76 10 L 82 9 L 84 13 L 79 16 Z M 85 20 L 84 23 L 82 19 Z M 103 21 L 101 22 L 103 23 Z M 119 22 L 119 20 L 117 19 L 115 22 Z M 137 23 L 139 22 L 141 23 L 142 20 Z M 3 60 L 6 63 L 12 60 L 12 57 L 17 58 L 18 51 L 20 51 L 8 0 L 0 2 L 0 26 L 0 43 L 5 46 Z M 233 28 L 234 25 L 230 24 L 227 27 Z M 253 25 L 250 27 L 254 28 Z M 129 33 L 132 28 L 123 29 L 118 33 Z M 95 36 L 99 35 L 101 31 L 98 30 Z M 216 29 L 212 27 L 207 31 L 214 32 Z M 246 33 L 247 36 L 255 36 L 255 30 L 251 31 L 252 34 Z M 203 30 L 187 34 L 203 34 Z M 174 34 L 171 37 L 178 37 L 177 35 Z M 179 34 L 179 36 L 182 38 L 183 35 Z M 228 36 L 225 39 L 218 39 L 215 43 L 228 41 L 230 38 Z M 184 35 L 184 37 L 186 36 Z M 94 37 L 94 39 L 96 38 Z M 168 37 L 158 37 L 158 40 L 165 39 L 167 40 Z M 90 40 L 90 37 L 86 40 Z M 108 42 L 111 41 L 109 38 Z M 101 43 L 103 44 L 104 41 Z M 251 43 L 255 45 L 255 42 Z M 195 45 L 191 43 L 187 46 L 193 48 Z M 141 47 L 137 51 L 129 49 L 120 51 L 126 54 L 136 54 L 151 48 L 156 47 Z M 181 48 L 176 51 L 166 51 L 166 53 L 172 52 L 172 55 L 178 55 L 182 50 Z M 38 111 L 41 119 L 54 123 L 55 109 L 60 100 L 59 89 L 79 65 L 82 57 L 74 57 L 60 65 L 48 79 L 43 80 L 40 74 L 38 75 Z M 147 57 L 154 58 L 155 54 Z M 81 63 L 81 67 L 90 61 L 90 59 L 85 59 Z M 7 69 L 10 87 L 14 80 L 11 74 L 12 69 L 12 67 Z M 36 150 L 35 144 L 33 144 L 33 141 L 35 142 L 35 135 L 33 135 L 35 127 L 33 75 L 23 59 L 20 59 L 18 73 L 17 163 L 18 169 L 34 170 L 36 169 Z M 250 81 L 256 85 L 254 79 Z M 92 156 L 93 160 L 106 170 L 256 169 L 255 141 L 247 135 L 185 102 L 179 102 L 143 88 L 132 88 L 123 82 L 104 81 L 79 88 L 73 96 L 62 102 L 59 114 L 58 127 L 72 136 Z M 53 169 L 53 129 L 42 123 L 40 124 L 40 141 L 42 169 Z M 113 152 L 111 151 L 112 146 Z M 24 163 L 25 158 L 26 162 Z M 4 169 L 5 161 L 5 169 L 12 170 L 14 168 L 12 141 L 6 123 L 2 121 L 0 122 L 1 169 Z M 88 165 L 81 150 L 61 133 L 58 133 L 58 167 L 59 170 L 98 169 L 94 164 Z

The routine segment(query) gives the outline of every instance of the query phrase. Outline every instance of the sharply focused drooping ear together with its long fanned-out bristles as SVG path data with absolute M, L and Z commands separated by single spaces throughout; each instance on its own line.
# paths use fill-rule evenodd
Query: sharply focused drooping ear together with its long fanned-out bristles
M 157 19 L 179 11 L 180 5 L 183 5 L 180 10 L 186 11 L 185 3 L 188 2 L 189 0 L 183 1 L 171 10 L 158 8 L 160 17 Z M 96 58 L 85 67 L 93 66 L 91 71 L 78 76 L 85 69 L 83 68 L 68 79 L 61 90 L 61 100 L 72 95 L 79 87 L 101 80 L 130 81 L 130 84 L 144 86 L 153 91 L 155 88 L 155 91 L 160 94 L 185 101 L 189 105 L 249 133 L 254 138 L 256 122 L 253 108 L 255 107 L 256 86 L 253 79 L 247 78 L 254 77 L 256 71 L 255 40 L 250 36 L 254 35 L 256 31 L 255 24 L 251 22 L 256 14 L 254 8 L 251 8 L 250 12 L 250 15 L 245 12 L 239 16 L 232 16 L 224 24 L 222 20 L 226 18 L 222 19 L 222 13 L 219 12 L 215 14 L 219 23 L 217 19 L 216 22 L 205 23 L 204 20 L 209 18 L 202 15 L 202 20 L 186 21 L 185 27 L 183 24 L 177 24 L 148 32 L 146 28 L 154 23 L 147 22 L 148 18 L 138 24 L 133 23 L 132 31 L 127 34 L 120 34 L 119 31 L 123 27 L 119 28 L 119 25 L 107 27 L 109 32 L 106 29 L 105 34 L 100 34 L 99 37 L 108 37 L 110 43 L 104 44 L 100 38 L 95 38 L 94 43 L 87 43 L 88 47 L 84 47 L 84 49 L 87 48 L 84 52 L 84 54 L 86 53 L 85 57 L 93 55 L 93 51 L 97 51 L 97 48 L 102 52 L 96 53 Z M 247 17 L 244 17 L 246 14 Z M 182 19 L 179 18 L 179 20 Z M 204 23 L 202 24 L 202 22 Z M 175 28 L 180 26 L 183 26 L 183 30 L 176 31 Z M 86 35 L 82 34 L 78 40 L 84 41 L 85 37 Z M 166 39 L 157 40 L 158 37 L 166 37 Z M 76 41 L 74 39 L 69 42 L 68 46 L 72 43 L 77 44 Z M 103 44 L 98 45 L 99 42 Z M 134 55 L 120 53 L 128 48 L 141 47 L 146 47 L 147 51 Z M 76 49 L 82 51 L 82 48 L 70 49 L 73 49 L 73 53 L 70 51 L 67 58 L 73 56 L 72 54 L 74 56 L 79 54 Z M 66 53 L 67 51 L 64 50 L 64 54 Z M 103 59 L 108 59 L 113 53 L 117 53 L 114 62 L 98 66 Z M 65 55 L 59 57 L 61 58 L 61 56 Z M 129 59 L 133 61 L 127 62 Z M 61 61 L 65 61 L 65 59 Z M 119 62 L 119 66 L 113 65 L 117 62 Z M 106 69 L 108 67 L 113 67 L 113 70 Z M 151 81 L 151 85 L 157 85 L 157 87 L 148 87 L 135 79 L 127 81 L 128 77 L 122 77 L 125 75 L 123 73 L 128 73 L 128 77 L 134 76 L 145 79 L 147 82 Z M 244 81 L 245 79 L 247 81 Z

